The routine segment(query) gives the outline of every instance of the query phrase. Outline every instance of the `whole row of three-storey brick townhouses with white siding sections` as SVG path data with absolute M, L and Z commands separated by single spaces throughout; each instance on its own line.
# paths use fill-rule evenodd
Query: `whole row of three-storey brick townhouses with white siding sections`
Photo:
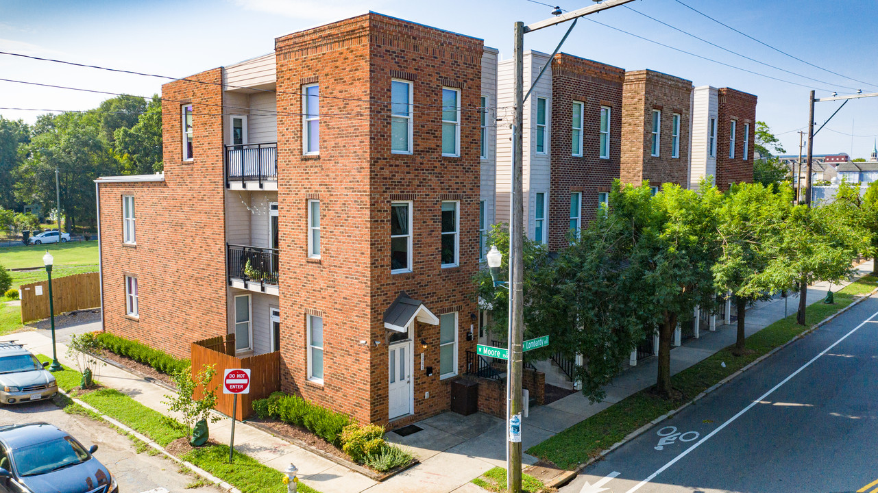
M 281 389 L 362 422 L 450 407 L 490 338 L 472 277 L 508 220 L 512 66 L 374 12 L 162 87 L 164 172 L 97 180 L 104 330 L 277 352 Z M 563 247 L 615 178 L 752 181 L 756 96 L 530 52 L 529 237 Z M 526 87 L 525 89 L 529 89 Z

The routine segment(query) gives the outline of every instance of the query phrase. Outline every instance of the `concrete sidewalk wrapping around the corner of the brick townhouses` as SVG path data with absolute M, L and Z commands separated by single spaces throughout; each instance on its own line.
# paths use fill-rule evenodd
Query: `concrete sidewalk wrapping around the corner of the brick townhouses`
M 872 261 L 864 262 L 860 264 L 856 277 L 867 275 L 872 270 Z M 833 285 L 832 289 L 835 291 L 844 285 L 846 284 Z M 822 299 L 828 288 L 828 284 L 824 283 L 811 286 L 808 289 L 808 303 L 812 304 Z M 797 303 L 797 297 L 789 298 L 787 315 L 795 312 Z M 747 335 L 758 332 L 766 325 L 784 317 L 783 299 L 761 302 L 747 311 L 745 325 Z M 82 333 L 100 328 L 99 323 L 69 327 L 65 329 L 59 340 L 68 341 L 68 332 Z M 17 339 L 34 353 L 52 354 L 51 334 L 48 331 L 18 332 L 0 339 Z M 723 347 L 733 344 L 735 339 L 734 325 L 721 325 L 714 332 L 702 330 L 699 339 L 691 339 L 684 346 L 672 349 L 672 373 L 680 372 L 706 359 Z M 58 357 L 61 363 L 76 368 L 75 362 L 67 358 L 66 352 L 67 347 L 59 343 Z M 579 421 L 607 409 L 623 398 L 651 386 L 655 382 L 657 364 L 656 359 L 651 358 L 623 371 L 605 388 L 607 397 L 600 403 L 589 404 L 588 399 L 581 393 L 575 393 L 554 403 L 532 409 L 529 418 L 525 418 L 522 424 L 523 449 L 527 450 Z M 99 375 L 96 376 L 107 387 L 119 389 L 140 404 L 163 414 L 173 415 L 168 411 L 167 406 L 162 404 L 169 390 L 113 366 L 101 368 Z M 322 493 L 483 492 L 484 490 L 471 484 L 470 481 L 490 468 L 504 467 L 506 464 L 505 423 L 500 418 L 483 413 L 461 416 L 444 412 L 424 419 L 416 425 L 421 427 L 420 432 L 407 437 L 388 432 L 386 438 L 388 441 L 407 447 L 418 457 L 421 464 L 380 483 L 246 423 L 235 426 L 235 448 L 278 470 L 283 470 L 291 462 L 294 463 L 299 468 L 302 480 Z M 230 431 L 229 418 L 222 418 L 218 423 L 210 426 L 211 437 L 221 443 L 228 443 Z M 533 464 L 536 458 L 525 454 L 523 461 L 525 464 Z

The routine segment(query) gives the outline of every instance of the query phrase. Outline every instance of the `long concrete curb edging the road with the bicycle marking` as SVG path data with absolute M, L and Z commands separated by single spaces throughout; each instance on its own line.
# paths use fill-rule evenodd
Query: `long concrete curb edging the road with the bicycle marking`
M 864 276 L 864 277 L 865 277 L 865 276 Z M 627 444 L 628 442 L 630 442 L 632 439 L 636 439 L 638 436 L 640 436 L 640 435 L 644 434 L 645 432 L 649 431 L 653 426 L 658 425 L 659 423 L 661 423 L 662 421 L 666 420 L 667 418 L 671 418 L 674 414 L 677 414 L 677 413 L 679 413 L 680 411 L 683 411 L 684 409 L 686 409 L 686 408 L 689 407 L 690 405 L 692 405 L 692 404 L 698 402 L 699 400 L 701 400 L 702 397 L 707 396 L 709 393 L 713 392 L 713 391 L 716 390 L 716 389 L 719 389 L 720 387 L 722 387 L 722 386 L 725 385 L 726 383 L 731 382 L 731 381 L 734 380 L 735 378 L 738 378 L 738 376 L 740 376 L 741 374 L 743 374 L 745 371 L 747 371 L 748 369 L 750 369 L 750 368 L 752 368 L 752 367 L 758 365 L 760 362 L 766 360 L 769 356 L 771 356 L 771 355 L 777 353 L 778 351 L 781 351 L 781 349 L 783 349 L 784 347 L 788 347 L 790 344 L 794 343 L 796 340 L 798 340 L 798 339 L 802 339 L 802 338 L 804 338 L 806 335 L 810 334 L 811 332 L 816 331 L 817 328 L 819 328 L 819 327 L 821 327 L 821 326 L 823 326 L 823 325 L 826 325 L 826 324 L 830 323 L 832 319 L 834 319 L 834 318 L 838 317 L 839 315 L 841 315 L 842 313 L 844 313 L 844 312 L 846 312 L 846 311 L 852 309 L 854 306 L 856 306 L 857 304 L 860 304 L 862 301 L 868 299 L 869 297 L 872 297 L 872 295 L 874 295 L 875 293 L 878 293 L 878 288 L 872 289 L 872 291 L 869 292 L 867 295 L 862 295 L 862 296 L 860 296 L 859 298 L 853 300 L 853 302 L 852 302 L 851 304 L 847 305 L 845 308 L 842 308 L 841 310 L 836 311 L 835 313 L 833 313 L 833 314 L 830 315 L 829 317 L 824 318 L 823 320 L 821 320 L 820 322 L 818 322 L 818 323 L 815 324 L 815 325 L 812 325 L 812 326 L 811 326 L 809 329 L 807 329 L 806 331 L 804 331 L 804 332 L 802 332 L 802 333 L 796 335 L 793 339 L 789 339 L 789 340 L 788 340 L 787 342 L 785 342 L 783 345 L 781 345 L 781 346 L 779 346 L 779 347 L 775 347 L 774 349 L 772 349 L 772 350 L 769 351 L 768 353 L 763 354 L 763 355 L 759 356 L 759 358 L 757 358 L 757 359 L 751 361 L 751 362 L 750 362 L 748 365 L 746 365 L 744 368 L 739 369 L 739 370 L 736 371 L 735 373 L 733 373 L 733 374 L 731 374 L 731 375 L 729 375 L 729 376 L 723 378 L 723 380 L 714 383 L 713 385 L 711 385 L 711 386 L 710 386 L 709 388 L 707 388 L 707 389 L 704 389 L 704 390 L 702 391 L 702 393 L 700 393 L 700 394 L 698 394 L 697 396 L 693 397 L 692 400 L 690 400 L 690 401 L 687 402 L 686 404 L 683 404 L 683 405 L 681 405 L 680 407 L 678 407 L 677 409 L 674 409 L 674 410 L 672 410 L 672 411 L 668 411 L 668 412 L 666 412 L 665 414 L 659 416 L 659 418 L 655 418 L 655 419 L 653 419 L 652 421 L 650 421 L 649 423 L 647 423 L 646 425 L 643 425 L 643 426 L 637 428 L 637 430 L 635 430 L 635 431 L 633 431 L 633 432 L 630 432 L 629 434 L 625 435 L 625 438 L 623 438 L 622 440 L 620 440 L 620 441 L 616 442 L 615 444 L 613 444 L 612 447 L 609 447 L 609 448 L 606 449 L 606 450 L 601 450 L 600 453 L 598 453 L 597 455 L 595 455 L 594 457 L 592 457 L 591 459 L 589 459 L 589 460 L 586 461 L 585 463 L 580 464 L 580 465 L 579 465 L 577 468 L 575 468 L 574 470 L 572 470 L 572 471 L 565 471 L 565 472 L 562 473 L 561 475 L 558 475 L 555 479 L 551 480 L 550 482 L 545 483 L 545 486 L 546 486 L 547 488 L 560 488 L 560 487 L 564 486 L 565 484 L 567 484 L 568 482 L 571 482 L 571 481 L 573 480 L 573 478 L 575 478 L 577 475 L 579 475 L 580 472 L 582 472 L 583 469 L 585 469 L 585 468 L 587 468 L 588 466 L 592 465 L 592 464 L 593 464 L 594 462 L 596 462 L 596 461 L 601 461 L 604 457 L 607 456 L 607 454 L 609 454 L 610 452 L 613 452 L 616 448 L 622 447 L 623 445 L 625 445 L 625 444 Z M 819 303 L 819 302 L 817 302 L 817 303 Z

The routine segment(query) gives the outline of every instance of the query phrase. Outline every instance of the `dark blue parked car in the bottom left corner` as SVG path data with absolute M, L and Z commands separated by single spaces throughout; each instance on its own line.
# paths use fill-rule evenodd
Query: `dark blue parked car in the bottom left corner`
M 47 423 L 0 426 L 0 492 L 119 493 L 96 450 Z

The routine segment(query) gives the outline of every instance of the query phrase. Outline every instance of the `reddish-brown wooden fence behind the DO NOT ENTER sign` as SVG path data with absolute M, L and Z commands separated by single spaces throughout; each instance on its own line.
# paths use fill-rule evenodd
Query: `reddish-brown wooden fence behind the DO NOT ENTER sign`
M 221 336 L 197 340 L 191 349 L 192 373 L 204 365 L 216 365 L 210 386 L 217 389 L 216 410 L 232 416 L 233 395 L 223 393 L 223 370 L 229 368 L 248 368 L 250 370 L 250 393 L 238 396 L 238 410 L 235 417 L 249 418 L 253 414 L 253 401 L 269 397 L 271 392 L 280 390 L 280 353 L 260 354 L 238 358 L 234 356 L 234 335 L 228 335 L 224 342 Z M 196 389 L 195 398 L 200 399 L 200 389 Z

